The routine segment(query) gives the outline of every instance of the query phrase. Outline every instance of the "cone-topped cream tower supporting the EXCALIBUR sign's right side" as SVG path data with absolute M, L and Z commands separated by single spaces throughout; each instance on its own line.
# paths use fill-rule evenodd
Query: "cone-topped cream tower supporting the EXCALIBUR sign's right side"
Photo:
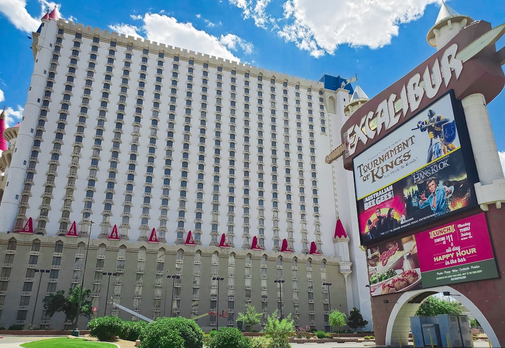
M 428 44 L 440 50 L 472 22 L 472 18 L 442 3 L 435 25 L 426 37 Z M 486 101 L 482 94 L 475 93 L 465 97 L 462 104 L 479 173 L 480 182 L 475 185 L 477 200 L 482 210 L 487 211 L 487 204 L 491 203 L 499 208 L 500 200 L 505 199 L 505 181 Z

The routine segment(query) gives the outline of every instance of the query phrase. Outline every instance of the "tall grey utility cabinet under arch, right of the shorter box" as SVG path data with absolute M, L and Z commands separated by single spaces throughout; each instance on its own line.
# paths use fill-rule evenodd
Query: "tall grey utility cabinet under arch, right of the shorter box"
M 443 347 L 471 347 L 472 333 L 466 315 L 439 314 L 437 316 Z

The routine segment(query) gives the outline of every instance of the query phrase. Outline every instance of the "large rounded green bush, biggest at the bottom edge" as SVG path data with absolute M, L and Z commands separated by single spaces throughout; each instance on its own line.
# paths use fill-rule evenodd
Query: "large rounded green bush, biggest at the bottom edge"
M 182 344 L 172 333 L 182 338 Z M 211 333 L 212 336 L 212 333 Z M 186 318 L 158 318 L 147 324 L 140 334 L 140 348 L 201 348 L 204 332 L 194 322 Z

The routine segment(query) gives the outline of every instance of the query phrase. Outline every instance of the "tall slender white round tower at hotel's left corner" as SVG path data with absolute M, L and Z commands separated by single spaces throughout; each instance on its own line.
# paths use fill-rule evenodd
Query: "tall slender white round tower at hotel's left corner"
M 47 83 L 47 73 L 51 67 L 53 56 L 53 43 L 58 32 L 58 12 L 55 8 L 49 15 L 42 19 L 40 35 L 34 35 L 33 45 L 36 48 L 34 59 L 38 62 L 34 65 L 30 81 L 30 91 L 28 92 L 26 104 L 23 111 L 23 121 L 19 127 L 18 140 L 14 151 L 16 156 L 12 158 L 9 173 L 14 178 L 25 178 L 32 149 L 35 130 L 37 128 L 38 117 L 41 109 L 41 96 Z M 6 190 L 0 205 L 0 233 L 13 231 L 15 218 L 18 213 L 21 193 L 24 182 L 21 180 L 12 181 L 11 185 L 6 184 Z

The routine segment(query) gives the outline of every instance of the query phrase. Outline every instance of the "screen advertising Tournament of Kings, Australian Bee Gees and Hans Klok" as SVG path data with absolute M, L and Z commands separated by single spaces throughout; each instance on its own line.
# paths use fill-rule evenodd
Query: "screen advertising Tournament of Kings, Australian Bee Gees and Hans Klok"
M 362 244 L 475 206 L 451 95 L 354 159 Z

